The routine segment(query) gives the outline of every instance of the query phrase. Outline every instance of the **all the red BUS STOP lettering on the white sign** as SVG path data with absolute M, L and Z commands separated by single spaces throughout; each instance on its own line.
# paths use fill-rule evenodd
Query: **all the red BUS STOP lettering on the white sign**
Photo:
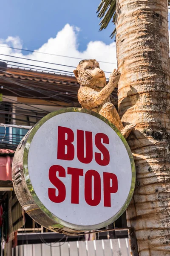
M 73 145 L 75 134 L 70 128 L 58 127 L 57 159 L 73 161 L 75 151 L 79 162 L 88 164 L 93 160 L 100 166 L 107 166 L 110 161 L 108 149 L 103 144 L 109 144 L 106 134 L 97 133 L 94 137 L 96 148 L 101 153 L 93 153 L 93 136 L 90 131 L 77 130 L 77 150 Z M 85 135 L 85 138 L 84 138 Z M 84 147 L 85 142 L 85 147 Z M 85 148 L 85 149 L 84 149 Z M 71 175 L 71 176 L 70 176 Z M 84 198 L 88 205 L 97 206 L 101 201 L 103 191 L 103 206 L 111 207 L 111 194 L 118 191 L 117 176 L 111 172 L 102 172 L 102 175 L 94 169 L 84 172 L 83 169 L 53 165 L 49 169 L 49 180 L 55 188 L 48 188 L 48 197 L 54 203 L 65 201 L 66 194 L 71 195 L 71 204 L 79 204 L 79 177 L 84 180 Z M 58 176 L 58 177 L 57 177 Z M 63 177 L 71 180 L 71 191 L 67 191 L 65 184 L 59 179 Z M 103 180 L 103 182 L 101 182 Z M 56 193 L 56 189 L 57 192 Z M 57 194 L 57 195 L 56 195 Z

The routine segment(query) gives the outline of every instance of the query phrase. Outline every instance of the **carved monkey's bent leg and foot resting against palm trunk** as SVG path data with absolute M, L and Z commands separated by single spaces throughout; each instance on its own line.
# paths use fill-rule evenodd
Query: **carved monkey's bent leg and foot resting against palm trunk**
M 115 125 L 119 131 L 121 131 L 125 139 L 129 136 L 132 129 L 136 126 L 135 124 L 130 124 L 124 127 L 115 106 L 110 102 L 107 102 L 105 103 L 105 105 L 102 106 L 99 114 L 107 118 L 111 123 L 113 123 L 113 125 Z

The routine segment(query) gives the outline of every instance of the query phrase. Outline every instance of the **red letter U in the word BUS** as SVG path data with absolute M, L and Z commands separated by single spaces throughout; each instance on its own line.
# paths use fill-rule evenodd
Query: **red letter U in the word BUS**
M 93 142 L 91 131 L 85 131 L 84 151 L 84 131 L 77 130 L 77 158 L 82 163 L 91 163 L 93 159 Z

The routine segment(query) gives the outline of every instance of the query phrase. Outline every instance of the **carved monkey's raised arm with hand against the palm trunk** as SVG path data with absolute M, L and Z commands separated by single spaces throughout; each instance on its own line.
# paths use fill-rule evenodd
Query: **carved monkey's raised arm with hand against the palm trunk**
M 96 108 L 108 99 L 114 88 L 119 82 L 120 73 L 119 71 L 113 71 L 110 76 L 108 84 L 99 92 L 96 90 L 82 86 L 78 91 L 78 100 L 83 108 L 93 109 Z

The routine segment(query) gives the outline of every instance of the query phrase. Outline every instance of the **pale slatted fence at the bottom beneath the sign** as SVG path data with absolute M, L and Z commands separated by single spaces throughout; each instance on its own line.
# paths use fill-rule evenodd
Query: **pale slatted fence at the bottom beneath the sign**
M 13 256 L 130 256 L 130 248 L 127 238 L 24 244 L 15 248 Z

